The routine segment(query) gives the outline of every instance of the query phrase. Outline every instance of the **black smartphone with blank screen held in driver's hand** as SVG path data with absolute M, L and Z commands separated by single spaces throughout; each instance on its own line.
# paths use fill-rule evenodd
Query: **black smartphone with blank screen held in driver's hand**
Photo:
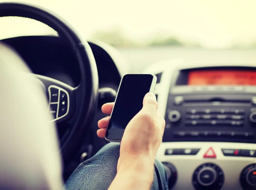
M 154 92 L 157 77 L 151 74 L 127 74 L 117 91 L 115 104 L 110 116 L 105 139 L 121 142 L 125 127 L 143 107 L 143 98 Z

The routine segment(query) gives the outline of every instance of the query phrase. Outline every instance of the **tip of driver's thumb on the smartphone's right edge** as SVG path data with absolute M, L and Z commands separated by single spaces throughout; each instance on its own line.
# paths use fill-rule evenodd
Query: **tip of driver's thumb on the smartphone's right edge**
M 157 112 L 158 104 L 156 95 L 148 92 L 143 99 L 143 110 L 147 112 Z

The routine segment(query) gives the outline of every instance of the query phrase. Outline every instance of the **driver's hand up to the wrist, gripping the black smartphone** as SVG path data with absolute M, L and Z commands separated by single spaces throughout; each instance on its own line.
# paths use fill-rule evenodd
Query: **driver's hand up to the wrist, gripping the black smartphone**
M 131 166 L 131 162 L 139 158 L 143 163 L 148 162 L 154 165 L 154 158 L 162 141 L 165 126 L 165 120 L 157 108 L 155 95 L 153 93 L 146 94 L 143 100 L 143 109 L 132 118 L 125 128 L 117 170 L 122 165 Z M 102 112 L 105 114 L 111 114 L 112 109 L 113 103 L 102 106 Z M 97 131 L 97 135 L 100 138 L 105 137 L 109 119 L 110 116 L 107 116 L 98 122 L 100 129 Z

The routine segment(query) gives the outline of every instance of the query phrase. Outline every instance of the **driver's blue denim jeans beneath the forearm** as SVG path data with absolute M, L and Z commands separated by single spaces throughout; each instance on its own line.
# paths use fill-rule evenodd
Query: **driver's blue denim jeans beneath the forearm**
M 81 163 L 64 185 L 65 190 L 107 190 L 116 176 L 119 143 L 108 143 L 92 158 Z M 166 170 L 156 160 L 152 190 L 168 190 Z

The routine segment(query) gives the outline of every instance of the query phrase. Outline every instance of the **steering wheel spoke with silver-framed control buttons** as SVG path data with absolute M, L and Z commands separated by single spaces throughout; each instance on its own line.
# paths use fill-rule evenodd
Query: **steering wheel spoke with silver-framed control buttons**
M 74 109 L 74 88 L 53 78 L 42 75 L 35 77 L 44 84 L 49 100 L 48 111 L 53 117 L 51 121 L 61 122 L 68 119 Z

